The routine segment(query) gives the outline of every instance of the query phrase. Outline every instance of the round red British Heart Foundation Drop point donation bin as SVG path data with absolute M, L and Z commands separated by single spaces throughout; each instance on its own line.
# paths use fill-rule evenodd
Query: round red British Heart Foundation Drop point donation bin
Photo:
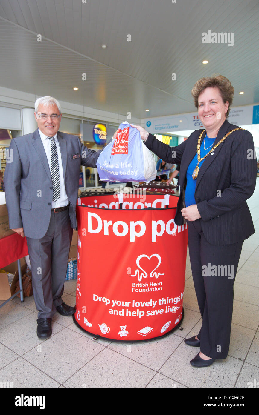
M 79 198 L 76 312 L 81 329 L 116 341 L 163 337 L 183 320 L 187 224 L 178 197 Z

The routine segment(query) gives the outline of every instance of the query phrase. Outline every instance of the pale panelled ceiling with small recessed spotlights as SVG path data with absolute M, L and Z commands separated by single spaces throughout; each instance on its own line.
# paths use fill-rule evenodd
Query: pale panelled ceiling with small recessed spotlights
M 258 0 L 173 1 L 0 0 L 0 86 L 144 118 L 195 111 L 221 73 L 258 103 Z

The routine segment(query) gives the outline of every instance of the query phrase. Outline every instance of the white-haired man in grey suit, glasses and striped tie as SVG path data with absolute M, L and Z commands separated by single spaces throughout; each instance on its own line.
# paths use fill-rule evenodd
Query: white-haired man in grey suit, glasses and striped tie
M 76 228 L 80 166 L 96 167 L 102 150 L 89 150 L 78 137 L 58 131 L 62 114 L 55 98 L 38 98 L 34 114 L 38 129 L 11 141 L 4 183 L 9 226 L 27 237 L 37 335 L 47 339 L 56 310 L 75 312 L 61 296 Z

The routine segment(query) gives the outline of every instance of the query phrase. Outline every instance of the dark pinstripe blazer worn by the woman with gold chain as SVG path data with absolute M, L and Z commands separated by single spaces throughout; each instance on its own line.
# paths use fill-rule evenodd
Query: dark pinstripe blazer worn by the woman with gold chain
M 213 145 L 234 128 L 237 125 L 225 120 Z M 167 163 L 180 163 L 180 196 L 175 214 L 177 225 L 184 223 L 181 209 L 185 207 L 186 172 L 197 153 L 201 132 L 202 130 L 192 132 L 186 141 L 175 147 L 163 144 L 152 134 L 149 134 L 145 142 L 148 149 L 162 160 Z M 205 133 L 202 141 L 204 137 Z M 233 244 L 254 233 L 252 217 L 246 203 L 254 193 L 256 184 L 257 160 L 253 154 L 252 134 L 246 130 L 238 130 L 217 146 L 214 154 L 209 154 L 200 167 L 195 200 L 201 215 L 202 231 L 211 244 Z

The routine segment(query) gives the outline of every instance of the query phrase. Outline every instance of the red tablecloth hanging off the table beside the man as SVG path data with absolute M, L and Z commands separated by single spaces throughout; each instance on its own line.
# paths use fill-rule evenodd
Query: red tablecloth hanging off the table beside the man
M 0 268 L 28 255 L 27 240 L 17 233 L 0 239 Z

